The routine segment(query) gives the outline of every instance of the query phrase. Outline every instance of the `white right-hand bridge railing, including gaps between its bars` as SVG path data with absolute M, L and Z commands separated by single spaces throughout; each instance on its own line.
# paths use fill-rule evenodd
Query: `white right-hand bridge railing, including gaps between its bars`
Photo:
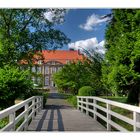
M 93 96 L 77 96 L 77 107 L 95 120 L 102 120 L 108 131 L 140 131 L 140 107 Z

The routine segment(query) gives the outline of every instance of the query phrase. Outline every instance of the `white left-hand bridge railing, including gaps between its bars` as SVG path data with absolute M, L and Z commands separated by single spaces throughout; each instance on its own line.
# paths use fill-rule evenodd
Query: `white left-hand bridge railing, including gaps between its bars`
M 33 96 L 25 101 L 0 111 L 0 120 L 8 124 L 0 131 L 26 131 L 29 121 L 42 109 L 43 96 Z

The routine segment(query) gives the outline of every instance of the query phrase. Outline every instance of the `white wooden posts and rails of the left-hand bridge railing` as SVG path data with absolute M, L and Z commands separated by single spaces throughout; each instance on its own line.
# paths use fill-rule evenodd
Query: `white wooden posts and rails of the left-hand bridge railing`
M 37 104 L 37 108 L 30 113 L 30 115 L 28 116 L 28 112 L 35 107 L 36 104 L 32 104 L 29 107 L 29 103 L 32 102 L 33 100 L 37 99 L 38 102 Z M 40 99 L 40 100 L 39 100 Z M 5 110 L 0 111 L 0 119 L 5 118 L 9 115 L 9 124 L 7 124 L 3 129 L 1 129 L 1 131 L 9 131 L 9 130 L 15 130 L 15 125 L 23 118 L 25 117 L 25 121 L 19 126 L 19 128 L 17 128 L 17 130 L 21 130 L 23 129 L 23 127 L 26 127 L 25 129 L 27 129 L 28 126 L 28 121 L 31 119 L 31 117 L 33 116 L 34 112 L 38 109 L 41 108 L 42 103 L 41 103 L 41 97 L 40 96 L 33 96 L 19 104 L 16 104 L 14 106 L 11 106 Z M 23 111 L 21 114 L 19 114 L 16 118 L 15 118 L 15 112 L 17 110 L 19 110 L 20 108 L 25 106 L 25 111 Z

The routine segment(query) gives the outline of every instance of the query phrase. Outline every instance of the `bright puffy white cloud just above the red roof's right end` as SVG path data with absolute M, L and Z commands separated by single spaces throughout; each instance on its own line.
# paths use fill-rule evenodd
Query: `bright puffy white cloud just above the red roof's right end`
M 88 51 L 96 51 L 99 52 L 101 54 L 105 53 L 105 48 L 104 48 L 104 43 L 105 41 L 101 41 L 98 42 L 97 38 L 90 38 L 90 39 L 86 39 L 86 40 L 79 40 L 73 43 L 69 43 L 68 47 L 69 49 L 74 49 L 74 50 L 88 50 Z

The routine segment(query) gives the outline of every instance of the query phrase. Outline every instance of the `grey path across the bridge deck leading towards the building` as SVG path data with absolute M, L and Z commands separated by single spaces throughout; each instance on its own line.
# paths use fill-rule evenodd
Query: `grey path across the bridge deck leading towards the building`
M 46 107 L 34 118 L 28 131 L 106 131 L 57 93 L 51 93 Z

